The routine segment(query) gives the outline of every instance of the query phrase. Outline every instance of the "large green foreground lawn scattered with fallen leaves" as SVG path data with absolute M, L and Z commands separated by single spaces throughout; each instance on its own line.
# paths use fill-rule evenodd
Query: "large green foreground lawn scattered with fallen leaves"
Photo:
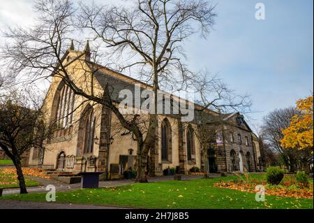
M 262 178 L 264 175 L 252 175 Z M 214 187 L 219 180 L 234 180 L 236 176 L 190 181 L 152 182 L 149 184 L 79 189 L 57 193 L 57 202 L 92 203 L 137 208 L 313 208 L 313 199 L 294 199 L 281 196 L 266 196 L 266 201 L 255 201 L 255 194 L 233 189 Z M 45 201 L 45 193 L 16 194 L 1 199 Z

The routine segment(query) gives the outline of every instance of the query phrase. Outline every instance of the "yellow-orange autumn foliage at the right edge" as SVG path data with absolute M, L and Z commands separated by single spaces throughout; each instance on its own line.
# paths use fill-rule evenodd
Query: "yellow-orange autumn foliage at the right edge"
M 300 115 L 294 115 L 290 127 L 283 129 L 283 148 L 313 149 L 313 96 L 297 101 Z

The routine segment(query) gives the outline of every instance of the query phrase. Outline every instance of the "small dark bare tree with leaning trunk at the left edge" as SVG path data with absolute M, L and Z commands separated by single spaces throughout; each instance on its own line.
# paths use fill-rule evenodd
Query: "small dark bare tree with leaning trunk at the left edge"
M 40 148 L 51 131 L 40 122 L 40 102 L 27 91 L 11 90 L 0 97 L 0 147 L 12 159 L 17 171 L 20 193 L 26 194 L 22 173 L 22 154 L 30 148 Z

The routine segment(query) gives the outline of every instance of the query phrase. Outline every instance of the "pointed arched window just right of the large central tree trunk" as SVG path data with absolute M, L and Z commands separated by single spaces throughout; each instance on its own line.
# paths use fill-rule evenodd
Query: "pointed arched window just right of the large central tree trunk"
M 172 131 L 170 122 L 165 119 L 161 123 L 161 160 L 172 161 Z

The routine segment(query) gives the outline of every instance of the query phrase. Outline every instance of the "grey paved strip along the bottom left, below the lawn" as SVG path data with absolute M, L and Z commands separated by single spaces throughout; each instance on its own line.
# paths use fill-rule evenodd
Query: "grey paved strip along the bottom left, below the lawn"
M 126 209 L 126 208 L 74 203 L 0 200 L 0 209 Z

